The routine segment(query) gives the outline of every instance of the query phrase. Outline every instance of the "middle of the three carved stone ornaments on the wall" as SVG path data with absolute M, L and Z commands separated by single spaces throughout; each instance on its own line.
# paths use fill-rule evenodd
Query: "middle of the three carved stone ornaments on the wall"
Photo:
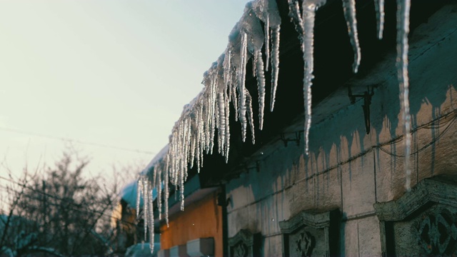
M 339 211 L 302 211 L 279 222 L 283 256 L 338 256 L 339 216 Z

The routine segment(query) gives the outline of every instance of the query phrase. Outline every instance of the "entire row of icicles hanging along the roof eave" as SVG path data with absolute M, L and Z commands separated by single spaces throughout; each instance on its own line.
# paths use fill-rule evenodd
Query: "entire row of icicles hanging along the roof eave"
M 383 36 L 384 1 L 374 0 L 376 9 L 378 39 Z M 353 72 L 357 73 L 361 61 L 358 43 L 355 0 L 342 0 L 343 12 L 353 48 Z M 408 104 L 408 31 L 410 0 L 398 0 L 397 11 L 397 70 L 401 92 L 403 134 L 405 136 L 406 188 L 410 189 L 409 153 L 411 152 L 411 116 Z M 316 11 L 326 0 L 288 0 L 289 16 L 298 32 L 303 51 L 303 96 L 305 109 L 305 153 L 308 154 L 309 131 L 311 128 L 311 86 L 313 81 L 313 31 Z M 261 21 L 264 27 L 261 26 Z M 213 153 L 217 129 L 217 151 L 229 160 L 230 129 L 229 104 L 236 110 L 235 120 L 241 122 L 242 140 L 246 141 L 249 125 L 252 143 L 255 143 L 252 97 L 246 89 L 246 64 L 253 60 L 253 76 L 258 86 L 258 129 L 263 129 L 265 108 L 265 71 L 271 69 L 271 103 L 273 111 L 278 84 L 279 36 L 281 17 L 275 0 L 257 0 L 246 4 L 244 14 L 229 35 L 229 45 L 219 59 L 204 74 L 204 89 L 191 103 L 184 106 L 179 121 L 176 121 L 169 140 L 169 151 L 154 166 L 154 175 L 139 179 L 139 195 L 144 196 L 145 228 L 154 231 L 152 188 L 164 185 L 164 212 L 168 225 L 169 183 L 180 191 L 181 210 L 184 210 L 184 182 L 187 171 L 194 165 L 200 171 L 204 165 L 204 153 Z M 264 52 L 262 53 L 262 48 Z M 265 61 L 263 60 L 265 54 Z M 270 66 L 271 64 L 271 66 Z M 151 178 L 151 176 L 153 176 Z M 161 192 L 161 190 L 158 190 Z M 138 196 L 140 197 L 140 196 Z M 161 193 L 158 193 L 161 199 Z M 161 210 L 161 201 L 157 201 Z M 137 202 L 139 213 L 140 202 Z M 159 211 L 159 218 L 161 212 Z M 146 236 L 146 230 L 145 230 Z M 154 233 L 151 232 L 151 237 Z M 151 251 L 154 238 L 151 241 Z

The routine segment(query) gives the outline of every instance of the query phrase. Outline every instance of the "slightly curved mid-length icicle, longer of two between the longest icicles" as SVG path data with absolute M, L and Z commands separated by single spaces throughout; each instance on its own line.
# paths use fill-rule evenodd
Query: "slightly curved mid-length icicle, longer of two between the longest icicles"
M 349 38 L 351 39 L 351 45 L 354 52 L 354 62 L 352 64 L 353 73 L 357 73 L 358 66 L 360 65 L 361 53 L 360 46 L 358 44 L 358 33 L 357 33 L 357 19 L 356 19 L 356 1 L 355 0 L 343 0 L 343 11 L 344 18 L 346 19 L 346 25 L 348 26 Z M 306 26 L 306 24 L 305 24 Z

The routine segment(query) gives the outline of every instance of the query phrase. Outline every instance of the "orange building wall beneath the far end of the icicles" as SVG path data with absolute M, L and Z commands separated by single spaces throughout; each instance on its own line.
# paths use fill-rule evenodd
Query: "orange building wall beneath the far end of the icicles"
M 162 224 L 161 248 L 186 244 L 196 238 L 214 238 L 214 256 L 223 255 L 222 245 L 222 208 L 216 203 L 217 192 L 201 199 L 184 211 L 169 217 L 169 228 Z

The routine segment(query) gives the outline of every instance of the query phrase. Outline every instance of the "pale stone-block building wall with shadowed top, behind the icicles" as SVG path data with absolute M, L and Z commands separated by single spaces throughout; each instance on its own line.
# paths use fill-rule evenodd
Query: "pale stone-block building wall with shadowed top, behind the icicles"
M 411 35 L 410 102 L 416 128 L 411 186 L 423 178 L 457 175 L 456 9 L 456 5 L 445 6 Z M 279 141 L 263 149 L 246 163 L 253 168 L 226 186 L 231 198 L 229 238 L 240 229 L 261 233 L 263 256 L 281 256 L 279 221 L 303 210 L 338 208 L 343 215 L 341 254 L 381 255 L 373 203 L 392 201 L 406 192 L 395 53 L 364 79 L 367 85 L 378 85 L 371 101 L 370 133 L 366 134 L 358 101 L 311 126 L 309 156 L 303 155 L 303 138 L 299 146 Z M 347 98 L 346 90 L 337 94 Z M 326 104 L 331 100 L 313 111 Z

